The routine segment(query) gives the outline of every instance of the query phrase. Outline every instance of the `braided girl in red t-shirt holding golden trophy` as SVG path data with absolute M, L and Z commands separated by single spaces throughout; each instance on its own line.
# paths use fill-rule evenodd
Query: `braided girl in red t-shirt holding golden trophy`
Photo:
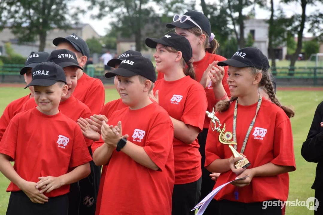
M 220 214 L 282 214 L 288 197 L 289 171 L 295 171 L 293 134 L 290 117 L 294 112 L 276 98 L 266 56 L 254 47 L 238 50 L 230 60 L 219 62 L 229 66 L 230 101 L 219 102 L 215 116 L 225 127 L 223 139 L 237 143 L 235 150 L 242 154 L 233 157 L 230 148 L 221 143 L 219 133 L 211 124 L 205 146 L 205 167 L 221 172 L 215 187 L 234 181 L 215 196 Z M 269 100 L 259 95 L 265 86 Z M 225 126 L 224 126 L 225 125 Z M 214 131 L 213 131 L 214 130 Z M 232 133 L 231 133 L 232 132 Z M 235 162 L 244 159 L 250 166 L 236 168 Z

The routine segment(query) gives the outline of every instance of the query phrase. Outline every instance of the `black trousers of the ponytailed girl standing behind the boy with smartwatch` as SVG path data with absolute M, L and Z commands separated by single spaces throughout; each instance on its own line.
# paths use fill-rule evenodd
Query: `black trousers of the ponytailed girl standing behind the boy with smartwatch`
M 191 211 L 201 196 L 202 177 L 187 184 L 175 184 L 172 195 L 172 215 L 194 215 Z

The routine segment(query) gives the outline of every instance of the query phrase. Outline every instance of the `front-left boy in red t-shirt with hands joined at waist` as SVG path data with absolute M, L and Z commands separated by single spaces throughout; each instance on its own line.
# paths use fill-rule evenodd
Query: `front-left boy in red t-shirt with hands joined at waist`
M 18 113 L 0 142 L 0 171 L 11 181 L 6 214 L 67 215 L 69 184 L 89 175 L 92 159 L 81 129 L 58 110 L 68 92 L 64 70 L 40 63 L 32 74 L 27 87 L 38 106 Z

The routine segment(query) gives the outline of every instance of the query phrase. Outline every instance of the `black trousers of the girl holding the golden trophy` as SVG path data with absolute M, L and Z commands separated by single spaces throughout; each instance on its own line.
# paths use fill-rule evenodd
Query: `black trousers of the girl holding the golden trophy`
M 277 200 L 272 200 L 277 201 Z M 264 207 L 263 202 L 243 203 L 220 200 L 220 215 L 281 215 L 281 206 Z

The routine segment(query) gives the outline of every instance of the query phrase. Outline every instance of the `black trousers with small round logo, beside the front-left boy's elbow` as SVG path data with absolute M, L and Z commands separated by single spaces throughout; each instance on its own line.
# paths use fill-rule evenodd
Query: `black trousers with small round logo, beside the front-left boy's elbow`
M 92 156 L 91 148 L 89 147 Z M 99 192 L 101 167 L 90 161 L 91 173 L 88 177 L 70 185 L 68 215 L 95 215 Z

